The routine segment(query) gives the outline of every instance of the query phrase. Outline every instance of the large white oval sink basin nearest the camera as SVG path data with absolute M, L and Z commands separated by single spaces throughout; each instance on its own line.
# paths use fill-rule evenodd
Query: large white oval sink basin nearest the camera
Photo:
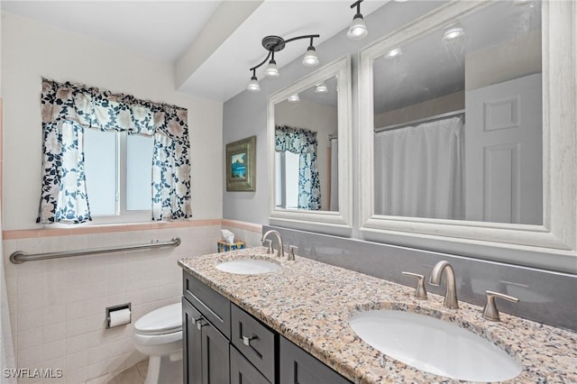
M 502 381 L 521 372 L 517 361 L 481 336 L 427 315 L 371 310 L 350 324 L 363 341 L 417 370 L 468 381 Z

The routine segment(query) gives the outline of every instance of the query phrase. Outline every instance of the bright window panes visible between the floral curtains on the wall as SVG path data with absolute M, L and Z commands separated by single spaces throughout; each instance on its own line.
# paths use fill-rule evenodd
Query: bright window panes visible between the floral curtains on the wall
M 151 136 L 85 130 L 85 175 L 95 223 L 151 219 Z

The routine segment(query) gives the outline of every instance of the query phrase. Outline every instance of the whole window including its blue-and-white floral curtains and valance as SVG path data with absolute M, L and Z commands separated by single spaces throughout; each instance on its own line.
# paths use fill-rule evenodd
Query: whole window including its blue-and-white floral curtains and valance
M 41 112 L 36 223 L 85 223 L 91 205 L 123 221 L 192 216 L 186 108 L 43 78 Z

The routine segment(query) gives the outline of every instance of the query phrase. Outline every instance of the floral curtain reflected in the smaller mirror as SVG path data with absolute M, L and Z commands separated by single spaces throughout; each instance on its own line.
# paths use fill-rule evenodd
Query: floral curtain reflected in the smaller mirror
M 277 125 L 275 151 L 299 153 L 298 208 L 320 210 L 321 188 L 316 166 L 316 132 Z

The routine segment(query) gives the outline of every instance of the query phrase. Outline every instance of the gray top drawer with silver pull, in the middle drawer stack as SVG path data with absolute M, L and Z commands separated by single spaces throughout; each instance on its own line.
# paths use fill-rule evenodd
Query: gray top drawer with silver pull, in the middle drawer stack
M 231 318 L 231 341 L 234 346 L 267 379 L 274 382 L 278 335 L 234 304 L 231 305 Z

